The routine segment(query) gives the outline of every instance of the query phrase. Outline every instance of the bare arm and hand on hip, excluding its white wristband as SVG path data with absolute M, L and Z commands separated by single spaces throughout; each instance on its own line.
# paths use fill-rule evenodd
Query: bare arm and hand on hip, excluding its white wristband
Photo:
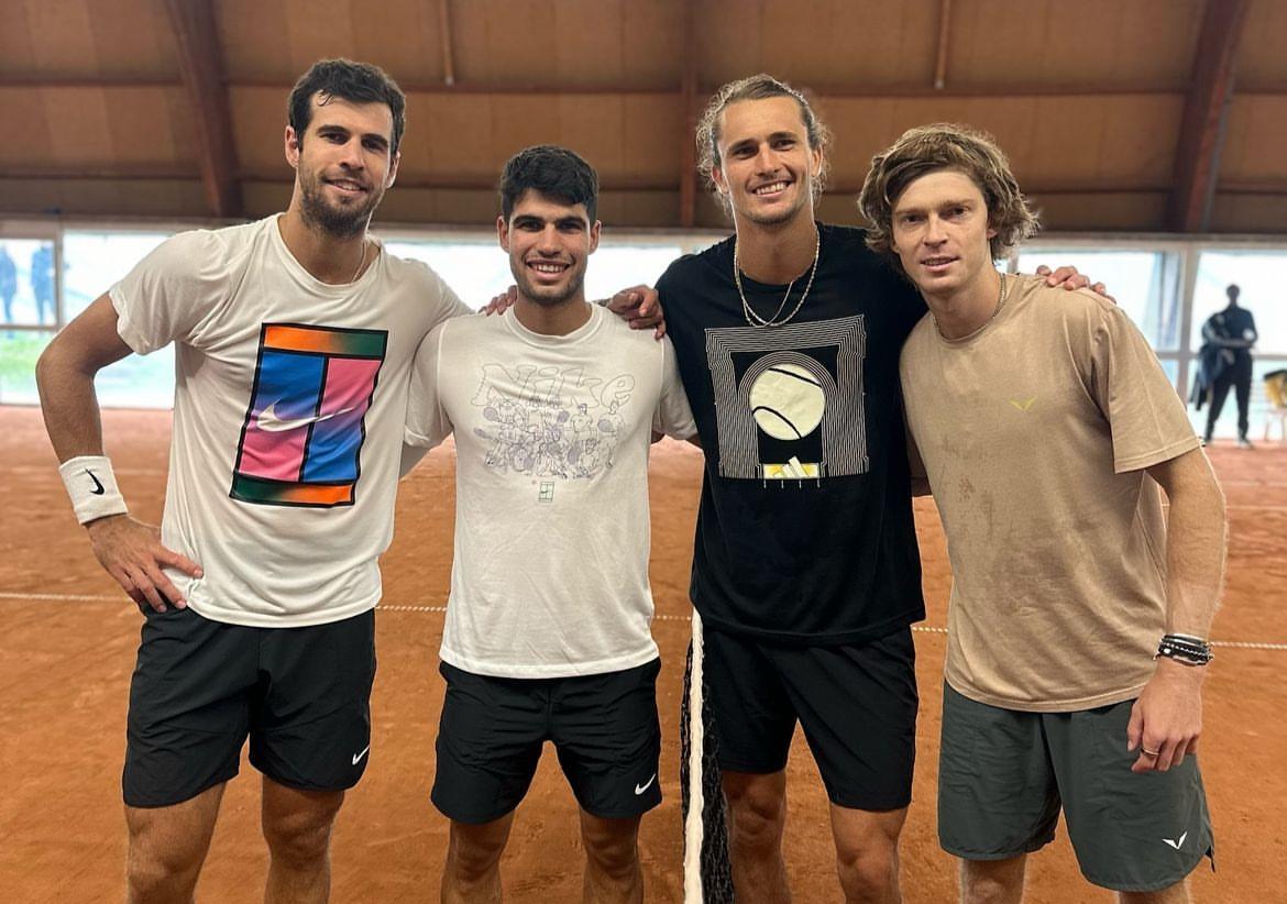
M 45 429 L 59 462 L 103 454 L 103 422 L 94 377 L 130 354 L 116 332 L 116 309 L 99 296 L 54 337 L 36 363 L 36 386 Z M 94 556 L 121 588 L 143 606 L 165 612 L 169 603 L 183 608 L 183 594 L 161 570 L 179 568 L 193 576 L 201 568 L 161 545 L 160 531 L 129 514 L 115 514 L 85 525 Z

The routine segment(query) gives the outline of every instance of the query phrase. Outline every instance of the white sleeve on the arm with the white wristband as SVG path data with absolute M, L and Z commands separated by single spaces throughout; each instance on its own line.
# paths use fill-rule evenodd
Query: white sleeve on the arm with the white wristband
M 228 296 L 228 257 L 207 230 L 179 233 L 108 289 L 116 332 L 140 355 L 190 338 Z

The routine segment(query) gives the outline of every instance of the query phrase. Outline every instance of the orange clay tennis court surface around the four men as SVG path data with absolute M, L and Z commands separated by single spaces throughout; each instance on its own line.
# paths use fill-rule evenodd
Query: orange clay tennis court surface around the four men
M 161 514 L 169 413 L 104 411 L 108 453 L 134 513 Z M 1203 903 L 1287 900 L 1287 446 L 1211 459 L 1229 502 L 1229 586 L 1206 683 L 1202 763 L 1219 873 L 1194 873 Z M 0 408 L 0 898 L 111 901 L 124 896 L 120 766 L 139 613 L 93 561 L 63 494 L 40 413 Z M 384 559 L 380 675 L 366 779 L 341 813 L 336 901 L 436 900 L 447 822 L 429 804 L 436 674 L 452 558 L 453 453 L 434 451 L 403 484 L 396 540 Z M 682 898 L 678 711 L 689 633 L 687 584 L 700 457 L 663 442 L 651 468 L 653 590 L 665 802 L 647 815 L 641 854 L 650 901 Z M 902 841 L 909 904 L 950 901 L 954 864 L 940 851 L 934 784 L 949 572 L 932 503 L 916 507 L 929 617 L 916 631 L 921 688 L 915 802 Z M 798 901 L 839 900 L 826 802 L 799 736 L 790 765 L 786 856 Z M 229 784 L 198 886 L 203 901 L 261 900 L 266 854 L 259 778 L 243 764 Z M 542 761 L 503 862 L 510 901 L 579 900 L 582 853 L 571 793 L 551 754 Z M 1031 904 L 1111 900 L 1085 885 L 1062 836 L 1033 858 Z

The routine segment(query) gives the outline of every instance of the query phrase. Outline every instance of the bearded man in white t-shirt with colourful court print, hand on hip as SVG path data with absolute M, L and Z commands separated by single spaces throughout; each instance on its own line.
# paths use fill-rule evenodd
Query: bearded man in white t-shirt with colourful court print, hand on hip
M 103 567 L 145 612 L 122 778 L 131 901 L 187 900 L 250 738 L 266 896 L 324 900 L 331 826 L 369 761 L 377 558 L 393 531 L 412 359 L 470 312 L 367 235 L 405 100 L 323 60 L 290 99 L 287 211 L 175 235 L 37 366 L 45 422 Z M 175 345 L 161 530 L 129 517 L 94 375 Z

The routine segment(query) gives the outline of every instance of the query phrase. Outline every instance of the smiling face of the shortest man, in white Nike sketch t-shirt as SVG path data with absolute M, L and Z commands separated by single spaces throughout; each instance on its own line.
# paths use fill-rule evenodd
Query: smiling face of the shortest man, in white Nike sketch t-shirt
M 584 204 L 528 189 L 495 226 L 520 296 L 550 307 L 586 300 L 586 265 L 598 247 L 600 224 L 589 221 Z

